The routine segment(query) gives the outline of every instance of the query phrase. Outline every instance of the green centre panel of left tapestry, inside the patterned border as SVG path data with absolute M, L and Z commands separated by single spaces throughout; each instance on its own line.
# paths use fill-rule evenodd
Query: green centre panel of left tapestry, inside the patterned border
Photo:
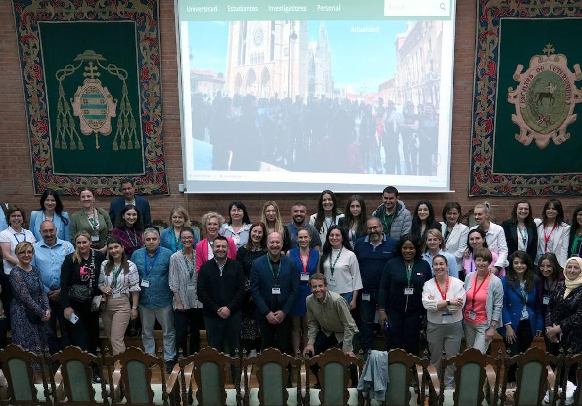
M 135 25 L 38 24 L 55 173 L 144 172 L 141 128 L 136 125 L 139 86 Z M 79 112 L 73 107 L 76 99 L 81 100 Z M 81 121 L 87 122 L 84 128 Z

